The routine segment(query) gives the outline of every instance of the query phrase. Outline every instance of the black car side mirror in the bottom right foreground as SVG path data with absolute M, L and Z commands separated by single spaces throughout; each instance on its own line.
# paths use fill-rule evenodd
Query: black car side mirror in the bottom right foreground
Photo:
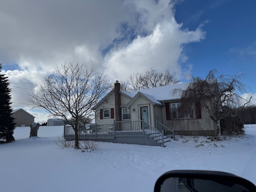
M 154 192 L 256 192 L 256 186 L 226 172 L 173 170 L 156 180 Z

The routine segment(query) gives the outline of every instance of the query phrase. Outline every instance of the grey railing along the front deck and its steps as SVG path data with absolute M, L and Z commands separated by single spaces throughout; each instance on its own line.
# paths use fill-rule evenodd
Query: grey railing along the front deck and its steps
M 144 136 L 154 145 L 159 145 L 160 140 L 164 142 L 164 135 L 174 138 L 174 130 L 170 130 L 160 122 L 156 121 L 156 128 L 142 120 L 137 121 L 115 121 L 113 124 L 90 124 L 78 127 L 79 139 L 114 139 L 115 136 Z M 64 126 L 64 138 L 74 139 L 75 132 L 70 125 Z M 162 146 L 164 144 L 162 143 Z

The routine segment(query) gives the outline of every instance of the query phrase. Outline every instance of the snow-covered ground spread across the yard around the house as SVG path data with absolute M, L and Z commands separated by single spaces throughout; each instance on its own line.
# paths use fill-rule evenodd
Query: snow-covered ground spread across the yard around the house
M 168 170 L 219 170 L 256 184 L 256 125 L 246 135 L 210 141 L 179 137 L 167 146 L 104 143 L 92 152 L 59 149 L 63 126 L 41 126 L 28 138 L 29 127 L 18 127 L 15 142 L 0 144 L 0 191 L 70 192 L 153 191 L 158 176 Z

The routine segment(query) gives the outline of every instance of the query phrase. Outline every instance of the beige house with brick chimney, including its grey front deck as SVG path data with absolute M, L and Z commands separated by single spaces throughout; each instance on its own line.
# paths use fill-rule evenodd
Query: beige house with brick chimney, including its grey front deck
M 165 146 L 174 134 L 215 136 L 217 128 L 200 100 L 182 110 L 180 94 L 187 83 L 125 92 L 116 81 L 114 89 L 94 107 L 95 124 L 78 128 L 79 140 Z M 211 102 L 211 98 L 204 98 Z M 64 126 L 64 138 L 74 140 L 72 126 Z

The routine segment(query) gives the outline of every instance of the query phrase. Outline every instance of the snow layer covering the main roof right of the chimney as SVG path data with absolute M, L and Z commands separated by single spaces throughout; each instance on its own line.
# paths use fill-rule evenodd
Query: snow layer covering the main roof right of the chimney
M 138 92 L 141 92 L 152 100 L 154 103 L 158 104 L 158 101 L 164 101 L 164 100 L 172 100 L 172 99 L 179 99 L 180 94 L 173 94 L 173 91 L 175 89 L 183 89 L 185 90 L 188 86 L 188 83 L 178 83 L 174 85 L 167 85 L 167 86 L 162 86 L 162 87 L 154 87 L 154 88 L 149 88 L 149 89 L 140 89 L 136 90 L 134 92 L 128 93 L 125 91 L 120 91 L 123 94 L 126 94 L 130 96 L 131 98 L 134 98 Z

